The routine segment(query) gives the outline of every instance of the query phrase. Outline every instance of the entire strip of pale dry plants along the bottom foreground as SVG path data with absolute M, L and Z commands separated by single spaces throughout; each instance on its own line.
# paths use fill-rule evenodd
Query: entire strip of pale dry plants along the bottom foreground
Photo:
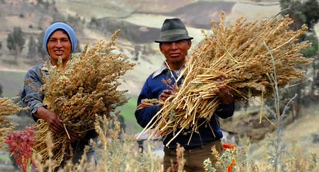
M 91 142 L 98 152 L 99 162 L 96 167 L 92 163 L 86 161 L 85 155 L 78 164 L 72 164 L 68 161 L 63 169 L 59 172 L 164 172 L 160 163 L 159 157 L 153 154 L 151 144 L 147 144 L 144 153 L 137 151 L 136 139 L 133 136 L 122 135 L 119 127 L 119 122 L 115 119 L 115 127 L 110 129 L 108 126 L 112 125 L 107 117 L 96 118 L 95 129 L 99 133 L 101 145 L 97 146 L 96 143 Z M 107 137 L 108 136 L 108 137 Z M 110 137 L 111 136 L 111 137 Z M 120 139 L 121 138 L 121 139 Z M 50 157 L 53 157 L 52 148 L 53 142 L 50 134 L 47 139 L 47 148 Z M 86 148 L 87 149 L 87 148 Z M 266 147 L 264 147 L 266 149 Z M 264 159 L 253 159 L 248 153 L 249 140 L 240 139 L 239 145 L 225 149 L 224 153 L 219 156 L 218 152 L 212 147 L 212 154 L 217 156 L 218 162 L 213 166 L 210 160 L 203 162 L 203 171 L 216 172 L 275 172 L 269 162 Z M 172 169 L 176 172 L 183 171 L 183 165 L 186 160 L 183 158 L 183 148 L 177 148 L 177 159 L 179 164 L 172 164 Z M 33 156 L 33 161 L 39 172 L 52 172 L 53 162 L 49 158 L 45 163 L 41 163 L 41 157 Z M 287 154 L 283 157 L 283 163 L 278 169 L 279 171 L 286 172 L 316 172 L 319 170 L 319 163 L 317 155 L 302 154 L 299 147 L 295 145 L 290 147 Z

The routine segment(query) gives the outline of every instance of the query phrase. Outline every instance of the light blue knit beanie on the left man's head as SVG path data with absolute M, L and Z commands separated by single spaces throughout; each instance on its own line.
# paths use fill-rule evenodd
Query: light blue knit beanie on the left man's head
M 77 47 L 77 36 L 75 35 L 75 32 L 71 28 L 71 26 L 69 26 L 65 23 L 62 23 L 62 22 L 56 22 L 47 28 L 47 30 L 44 33 L 44 38 L 43 38 L 44 49 L 47 50 L 47 52 L 48 52 L 48 47 L 47 47 L 48 40 L 49 40 L 50 36 L 52 35 L 52 33 L 55 32 L 56 30 L 59 30 L 59 29 L 65 31 L 68 34 L 69 39 L 71 41 L 71 53 L 72 53 L 74 51 L 75 47 Z M 49 52 L 48 52 L 48 54 L 49 54 Z

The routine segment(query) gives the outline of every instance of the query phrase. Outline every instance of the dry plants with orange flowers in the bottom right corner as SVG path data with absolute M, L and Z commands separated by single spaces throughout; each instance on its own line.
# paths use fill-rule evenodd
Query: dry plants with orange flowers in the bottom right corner
M 243 146 L 243 145 L 240 145 Z M 213 148 L 212 148 L 213 149 Z M 300 148 L 292 147 L 283 157 L 284 161 L 278 171 L 286 172 L 316 172 L 319 170 L 317 155 L 301 154 Z M 226 149 L 219 156 L 214 154 L 219 160 L 213 167 L 210 161 L 204 161 L 205 172 L 228 171 L 228 172 L 277 172 L 270 162 L 256 160 L 250 157 L 244 148 Z M 213 151 L 214 152 L 214 151 Z

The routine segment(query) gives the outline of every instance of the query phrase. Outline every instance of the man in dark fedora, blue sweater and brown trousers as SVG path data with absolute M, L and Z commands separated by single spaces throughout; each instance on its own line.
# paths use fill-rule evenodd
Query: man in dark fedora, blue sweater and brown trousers
M 166 62 L 163 62 L 162 66 L 154 71 L 145 81 L 137 100 L 137 109 L 135 111 L 135 117 L 137 122 L 142 127 L 145 127 L 152 119 L 152 117 L 159 111 L 160 107 L 150 106 L 143 104 L 141 100 L 148 98 L 158 98 L 165 101 L 167 97 L 172 93 L 172 90 L 164 84 L 162 80 L 171 80 L 170 85 L 175 83 L 175 79 L 184 70 L 185 57 L 188 50 L 192 45 L 191 39 L 188 35 L 185 25 L 179 18 L 166 19 L 163 23 L 162 29 L 159 34 L 159 39 L 155 42 L 159 43 L 159 49 L 165 56 Z M 177 83 L 180 85 L 182 80 Z M 219 98 L 222 102 L 218 110 L 214 113 L 210 120 L 211 128 L 207 126 L 198 127 L 198 133 L 194 133 L 191 137 L 191 130 L 185 130 L 174 139 L 168 147 L 164 148 L 164 171 L 168 168 L 174 168 L 176 164 L 176 147 L 179 143 L 185 148 L 184 158 L 186 160 L 184 169 L 187 172 L 199 172 L 204 171 L 203 161 L 210 158 L 214 163 L 215 157 L 211 154 L 211 147 L 215 146 L 217 151 L 222 152 L 222 145 L 220 138 L 222 133 L 219 129 L 218 118 L 228 118 L 234 113 L 234 98 L 229 94 L 227 88 L 220 89 Z M 204 122 L 205 119 L 202 119 Z M 199 121 L 201 122 L 201 120 Z M 189 141 L 189 138 L 191 140 Z M 164 137 L 163 143 L 167 144 L 169 140 L 173 138 L 173 133 L 169 133 Z M 173 166 L 172 163 L 173 162 Z M 172 170 L 172 169 L 171 169 Z

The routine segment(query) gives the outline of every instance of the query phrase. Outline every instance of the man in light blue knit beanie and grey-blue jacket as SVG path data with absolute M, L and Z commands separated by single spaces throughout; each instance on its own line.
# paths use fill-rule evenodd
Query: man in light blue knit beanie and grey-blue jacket
M 21 93 L 21 99 L 25 106 L 29 106 L 29 112 L 33 119 L 37 121 L 39 118 L 44 119 L 48 122 L 49 128 L 54 133 L 65 132 L 62 120 L 58 114 L 46 109 L 46 105 L 42 103 L 44 99 L 43 93 L 39 92 L 38 89 L 42 85 L 41 71 L 46 76 L 48 75 L 48 69 L 53 66 L 58 66 L 59 57 L 62 58 L 62 67 L 67 67 L 67 62 L 71 59 L 71 53 L 77 46 L 77 36 L 74 30 L 67 24 L 57 22 L 50 25 L 45 31 L 43 38 L 43 47 L 48 52 L 49 58 L 46 62 L 36 65 L 30 68 L 27 73 L 25 80 L 30 82 L 34 88 L 31 88 L 26 83 L 23 85 Z M 94 130 L 88 131 L 84 135 L 76 135 L 70 133 L 70 142 L 73 148 L 73 163 L 77 163 L 83 154 L 85 145 L 89 144 L 91 138 L 96 138 L 97 134 Z M 97 164 L 97 157 L 95 150 L 91 149 L 86 154 L 88 161 L 95 161 Z M 68 156 L 65 156 L 68 157 Z M 63 163 L 60 165 L 63 167 Z M 56 168 L 55 171 L 57 171 Z

